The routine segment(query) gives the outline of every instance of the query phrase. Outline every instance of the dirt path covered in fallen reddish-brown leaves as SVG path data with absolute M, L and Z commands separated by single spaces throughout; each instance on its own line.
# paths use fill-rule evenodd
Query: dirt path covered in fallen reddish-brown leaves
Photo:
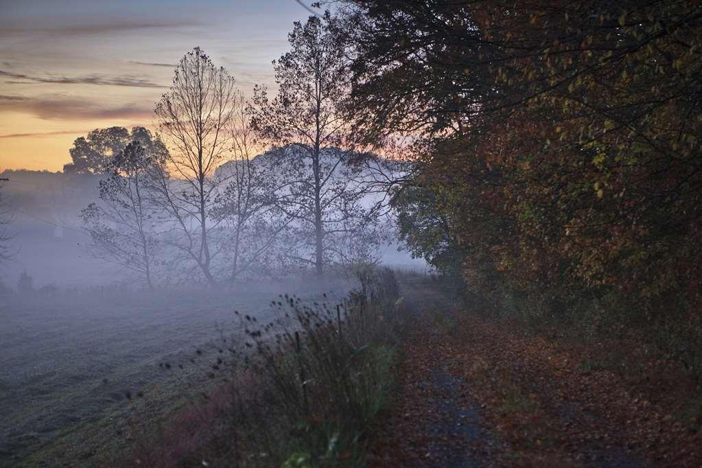
M 371 467 L 699 467 L 702 437 L 607 370 L 472 316 L 426 280 Z

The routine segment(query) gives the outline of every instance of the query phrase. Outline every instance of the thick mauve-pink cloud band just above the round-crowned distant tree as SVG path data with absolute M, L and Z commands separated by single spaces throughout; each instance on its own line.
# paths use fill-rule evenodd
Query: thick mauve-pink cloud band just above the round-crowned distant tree
M 0 112 L 22 112 L 45 120 L 133 120 L 150 119 L 153 109 L 128 103 L 106 106 L 102 102 L 48 95 L 21 100 L 0 100 Z

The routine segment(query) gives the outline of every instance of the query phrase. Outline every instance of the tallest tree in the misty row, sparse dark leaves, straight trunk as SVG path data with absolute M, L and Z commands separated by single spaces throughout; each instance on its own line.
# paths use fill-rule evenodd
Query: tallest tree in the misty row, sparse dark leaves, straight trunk
M 340 252 L 335 236 L 373 226 L 373 213 L 361 203 L 365 187 L 352 180 L 352 119 L 344 108 L 350 76 L 334 22 L 329 12 L 304 25 L 296 22 L 291 51 L 274 62 L 277 96 L 269 100 L 265 88 L 257 87 L 253 98 L 254 128 L 281 146 L 278 159 L 288 180 L 279 189 L 279 206 L 296 219 L 300 234 L 292 255 L 319 275 Z

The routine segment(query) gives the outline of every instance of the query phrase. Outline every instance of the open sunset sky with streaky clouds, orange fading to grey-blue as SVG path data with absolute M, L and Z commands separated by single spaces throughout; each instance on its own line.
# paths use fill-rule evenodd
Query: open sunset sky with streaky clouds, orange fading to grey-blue
M 88 131 L 152 127 L 195 46 L 245 95 L 272 86 L 271 61 L 309 15 L 296 0 L 0 0 L 0 171 L 60 171 Z

